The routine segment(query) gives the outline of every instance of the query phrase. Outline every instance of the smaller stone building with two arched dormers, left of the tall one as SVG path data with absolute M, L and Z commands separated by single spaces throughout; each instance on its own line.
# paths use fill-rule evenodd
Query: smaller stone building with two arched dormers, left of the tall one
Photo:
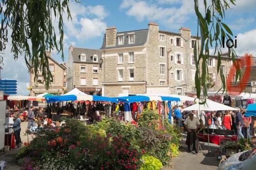
M 78 88 L 87 94 L 100 94 L 102 59 L 99 50 L 69 47 L 67 90 Z

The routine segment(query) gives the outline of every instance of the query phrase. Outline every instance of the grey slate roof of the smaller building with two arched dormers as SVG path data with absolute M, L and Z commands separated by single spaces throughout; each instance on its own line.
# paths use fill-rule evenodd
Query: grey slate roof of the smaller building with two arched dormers
M 97 62 L 93 62 L 93 55 L 96 54 L 98 56 L 98 63 L 102 63 L 101 52 L 99 50 L 73 47 L 73 51 L 71 53 L 72 53 L 74 62 L 97 63 Z M 80 60 L 80 55 L 82 53 L 86 55 L 86 61 L 81 61 Z

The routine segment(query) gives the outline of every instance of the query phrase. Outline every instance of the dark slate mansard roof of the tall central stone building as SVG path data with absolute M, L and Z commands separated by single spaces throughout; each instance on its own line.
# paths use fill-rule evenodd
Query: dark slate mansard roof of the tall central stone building
M 128 43 L 128 34 L 135 33 L 135 39 L 133 44 Z M 111 49 L 111 48 L 121 48 L 121 47 L 132 47 L 132 46 L 142 46 L 146 43 L 148 29 L 144 30 L 135 30 L 135 31 L 126 31 L 126 32 L 119 32 L 118 34 L 124 34 L 124 42 L 123 45 L 118 45 L 118 37 L 116 37 L 116 45 L 115 46 L 106 46 L 106 35 L 104 35 L 103 43 L 100 50 L 104 49 Z

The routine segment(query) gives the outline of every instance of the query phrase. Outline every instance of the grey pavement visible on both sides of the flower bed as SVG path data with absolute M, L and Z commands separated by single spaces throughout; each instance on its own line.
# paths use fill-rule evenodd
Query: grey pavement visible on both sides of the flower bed
M 20 138 L 22 139 L 23 143 L 28 142 L 32 140 L 34 135 L 24 135 L 27 128 L 27 122 L 23 122 L 20 126 L 22 128 L 22 131 L 20 132 Z M 181 141 L 181 147 L 180 147 L 180 154 L 172 159 L 172 168 L 164 167 L 162 170 L 212 170 L 212 169 L 218 169 L 219 160 L 217 160 L 217 156 L 215 157 L 206 157 L 204 156 L 204 153 L 208 153 L 208 145 L 205 143 L 205 145 L 202 148 L 202 152 L 199 152 L 198 155 L 188 153 L 187 152 L 187 146 L 185 144 L 186 135 L 182 134 L 182 141 Z M 210 149 L 212 153 L 215 153 L 219 149 L 219 146 L 216 144 L 210 143 Z M 5 154 L 0 155 L 0 160 L 4 160 L 7 162 L 7 166 L 5 169 L 10 170 L 19 170 L 22 167 L 18 166 L 16 164 L 15 155 L 17 154 L 18 149 L 13 149 L 11 151 L 7 151 Z M 1 153 L 0 153 L 1 154 Z

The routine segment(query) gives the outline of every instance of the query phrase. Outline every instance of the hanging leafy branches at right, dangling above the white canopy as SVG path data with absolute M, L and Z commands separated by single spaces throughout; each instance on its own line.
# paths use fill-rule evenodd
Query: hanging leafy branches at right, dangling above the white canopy
M 225 11 L 230 9 L 230 4 L 236 5 L 234 2 L 234 0 L 204 0 L 204 11 L 199 11 L 198 4 L 202 3 L 202 1 L 194 0 L 195 12 L 198 17 L 197 34 L 198 36 L 199 34 L 201 36 L 201 46 L 196 42 L 194 48 L 194 56 L 196 56 L 195 84 L 198 98 L 200 98 L 201 90 L 203 91 L 202 103 L 205 103 L 207 98 L 207 84 L 203 82 L 206 82 L 208 76 L 207 59 L 210 55 L 209 49 L 212 47 L 215 48 L 214 55 L 218 55 L 217 72 L 221 77 L 223 92 L 226 91 L 225 76 L 221 68 L 221 44 L 223 36 L 231 39 L 233 33 L 223 20 L 225 18 Z M 232 59 L 234 64 L 236 64 L 237 54 L 234 48 L 228 48 L 228 57 Z M 201 65 L 199 64 L 200 62 L 202 62 Z M 242 77 L 240 68 L 238 65 L 235 65 L 235 67 L 237 68 L 236 80 L 240 80 Z

